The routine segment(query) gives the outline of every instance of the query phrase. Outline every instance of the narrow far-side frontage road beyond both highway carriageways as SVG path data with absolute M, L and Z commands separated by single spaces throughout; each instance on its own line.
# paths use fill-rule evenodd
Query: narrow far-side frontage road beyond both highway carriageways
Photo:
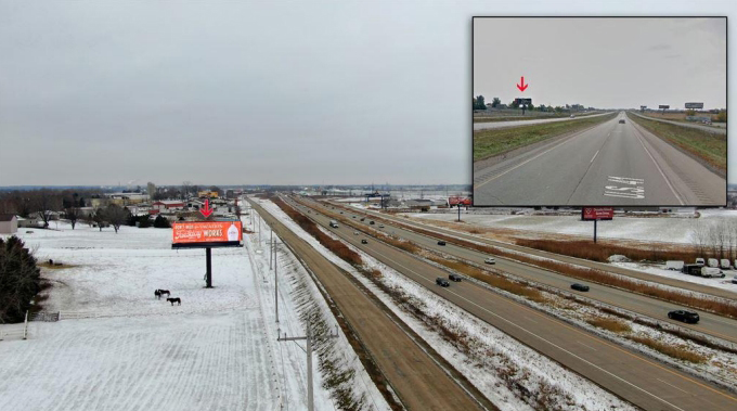
M 315 203 L 315 204 L 319 204 L 319 203 Z M 461 231 L 445 229 L 445 228 L 438 227 L 438 226 L 421 223 L 421 222 L 406 220 L 406 219 L 400 219 L 400 218 L 393 217 L 391 215 L 379 214 L 379 213 L 374 211 L 374 210 L 366 210 L 366 209 L 358 210 L 357 209 L 357 213 L 377 216 L 377 217 L 384 218 L 386 220 L 396 221 L 398 223 L 408 224 L 410 227 L 415 227 L 415 228 L 423 229 L 423 230 L 429 230 L 429 231 L 434 231 L 434 232 L 441 233 L 441 234 L 444 234 L 444 235 L 452 235 L 452 236 L 455 236 L 455 237 L 458 237 L 458 239 L 468 240 L 468 241 L 473 241 L 473 242 L 477 242 L 477 243 L 482 243 L 482 244 L 491 245 L 491 246 L 494 246 L 494 247 L 502 247 L 502 248 L 507 248 L 507 249 L 512 249 L 512 251 L 515 251 L 515 252 L 520 252 L 520 253 L 525 253 L 525 254 L 529 254 L 529 255 L 533 255 L 533 256 L 538 256 L 538 257 L 551 258 L 551 259 L 554 259 L 554 260 L 557 260 L 557 261 L 560 261 L 560 262 L 568 262 L 568 264 L 573 264 L 573 265 L 578 265 L 578 266 L 589 267 L 589 268 L 593 268 L 593 269 L 597 269 L 597 270 L 602 270 L 602 271 L 612 272 L 612 273 L 616 273 L 616 274 L 626 275 L 626 277 L 634 278 L 634 279 L 645 280 L 645 281 L 649 281 L 649 282 L 654 282 L 654 283 L 660 283 L 660 284 L 670 285 L 670 286 L 673 286 L 673 287 L 676 287 L 676 288 L 694 291 L 694 292 L 697 292 L 697 293 L 713 295 L 713 296 L 717 296 L 717 297 L 722 297 L 722 298 L 728 298 L 728 299 L 733 299 L 733 300 L 737 298 L 737 288 L 735 288 L 735 291 L 729 291 L 729 290 L 724 290 L 724 288 L 712 287 L 712 286 L 709 286 L 709 285 L 697 284 L 697 283 L 693 283 L 693 282 L 688 282 L 688 281 L 671 279 L 671 278 L 667 278 L 667 277 L 661 277 L 661 275 L 654 275 L 654 274 L 649 274 L 647 272 L 630 270 L 630 269 L 626 269 L 626 268 L 611 266 L 611 265 L 608 265 L 608 264 L 605 264 L 605 262 L 591 261 L 591 260 L 586 260 L 586 259 L 582 259 L 582 258 L 576 258 L 576 257 L 569 257 L 569 256 L 565 256 L 565 255 L 560 255 L 560 254 L 543 252 L 543 251 L 540 251 L 540 249 L 523 247 L 523 246 L 516 245 L 516 244 L 503 243 L 501 241 L 489 240 L 489 239 L 478 236 L 478 235 L 475 235 L 475 234 L 469 234 L 469 233 L 465 233 L 465 232 L 461 232 Z

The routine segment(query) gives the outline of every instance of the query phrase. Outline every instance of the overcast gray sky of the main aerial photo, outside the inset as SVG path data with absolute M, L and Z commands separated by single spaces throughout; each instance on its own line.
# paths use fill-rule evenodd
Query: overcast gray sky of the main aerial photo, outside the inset
M 0 0 L 0 185 L 470 183 L 471 16 L 734 8 Z M 570 55 L 585 37 L 566 39 Z M 545 86 L 528 73 L 534 97 Z

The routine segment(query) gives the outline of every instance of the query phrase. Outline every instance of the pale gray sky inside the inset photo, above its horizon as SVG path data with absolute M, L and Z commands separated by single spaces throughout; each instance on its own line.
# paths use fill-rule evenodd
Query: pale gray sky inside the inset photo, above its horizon
M 476 18 L 474 95 L 726 107 L 726 18 Z M 516 85 L 525 76 L 528 88 Z

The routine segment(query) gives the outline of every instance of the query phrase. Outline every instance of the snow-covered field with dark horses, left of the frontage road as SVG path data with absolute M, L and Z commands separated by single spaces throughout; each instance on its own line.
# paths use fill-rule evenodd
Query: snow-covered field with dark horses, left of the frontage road
M 59 229 L 18 231 L 40 260 L 70 266 L 43 271 L 53 283 L 44 309 L 102 318 L 31 322 L 27 341 L 0 342 L 0 410 L 307 409 L 305 351 L 276 342 L 268 252 L 255 234 L 245 248 L 212 249 L 206 290 L 205 251 L 171 249 L 171 230 Z M 294 336 L 305 330 L 293 296 L 311 297 L 295 288 L 290 258 L 280 256 L 279 326 Z M 156 299 L 156 288 L 182 305 Z M 315 407 L 334 410 L 313 364 Z M 357 386 L 375 394 L 370 380 Z

